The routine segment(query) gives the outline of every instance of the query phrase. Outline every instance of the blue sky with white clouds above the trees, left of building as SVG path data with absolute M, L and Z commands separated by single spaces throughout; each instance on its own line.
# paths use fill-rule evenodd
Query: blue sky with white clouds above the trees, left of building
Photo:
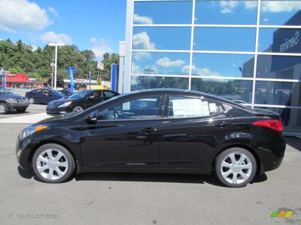
M 125 41 L 126 0 L 0 0 L 0 15 L 0 39 L 14 43 L 74 44 L 101 60 Z

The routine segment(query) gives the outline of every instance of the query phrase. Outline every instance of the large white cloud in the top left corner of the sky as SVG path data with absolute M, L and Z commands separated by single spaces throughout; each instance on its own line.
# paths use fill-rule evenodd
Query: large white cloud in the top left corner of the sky
M 45 9 L 27 0 L 1 0 L 0 30 L 42 30 L 52 23 Z

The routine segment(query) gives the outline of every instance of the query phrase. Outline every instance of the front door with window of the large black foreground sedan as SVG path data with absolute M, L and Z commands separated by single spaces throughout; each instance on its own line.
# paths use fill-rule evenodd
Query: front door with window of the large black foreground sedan
M 100 108 L 95 124 L 83 124 L 80 145 L 85 167 L 159 167 L 163 109 L 158 110 L 158 104 L 164 98 L 155 95 L 139 99 L 147 99 L 149 108 L 133 110 L 134 99 L 127 99 Z

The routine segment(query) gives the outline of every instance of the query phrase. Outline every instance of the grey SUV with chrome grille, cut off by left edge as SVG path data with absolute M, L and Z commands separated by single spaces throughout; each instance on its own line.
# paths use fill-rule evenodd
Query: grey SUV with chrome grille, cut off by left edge
M 7 114 L 9 110 L 24 113 L 29 106 L 28 98 L 15 95 L 7 88 L 0 88 L 0 114 Z

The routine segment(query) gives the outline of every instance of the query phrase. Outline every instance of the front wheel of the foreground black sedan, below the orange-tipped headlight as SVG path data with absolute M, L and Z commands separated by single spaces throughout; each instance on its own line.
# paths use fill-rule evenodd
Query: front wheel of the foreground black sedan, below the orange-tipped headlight
M 47 183 L 61 183 L 69 179 L 75 170 L 71 153 L 61 145 L 45 144 L 33 155 L 33 171 Z

